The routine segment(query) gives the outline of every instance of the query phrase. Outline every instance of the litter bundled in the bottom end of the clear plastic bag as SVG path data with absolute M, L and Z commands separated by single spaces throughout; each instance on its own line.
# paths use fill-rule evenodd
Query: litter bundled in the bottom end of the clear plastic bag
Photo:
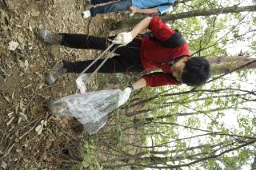
M 67 109 L 67 104 L 65 101 L 62 101 L 62 102 L 50 101 L 46 106 L 47 106 L 47 109 L 49 109 L 50 114 L 65 116 L 65 110 Z

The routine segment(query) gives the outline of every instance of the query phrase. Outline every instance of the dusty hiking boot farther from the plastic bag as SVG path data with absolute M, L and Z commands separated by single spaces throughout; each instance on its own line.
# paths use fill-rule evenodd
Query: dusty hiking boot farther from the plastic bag
M 50 32 L 45 29 L 38 29 L 38 37 L 42 42 L 50 45 L 61 45 L 62 35 Z

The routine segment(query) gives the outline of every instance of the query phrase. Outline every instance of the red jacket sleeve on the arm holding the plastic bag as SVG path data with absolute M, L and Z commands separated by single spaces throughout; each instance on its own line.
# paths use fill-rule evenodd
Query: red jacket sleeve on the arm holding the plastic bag
M 181 84 L 171 73 L 150 73 L 143 78 L 146 80 L 146 85 L 150 87 Z

